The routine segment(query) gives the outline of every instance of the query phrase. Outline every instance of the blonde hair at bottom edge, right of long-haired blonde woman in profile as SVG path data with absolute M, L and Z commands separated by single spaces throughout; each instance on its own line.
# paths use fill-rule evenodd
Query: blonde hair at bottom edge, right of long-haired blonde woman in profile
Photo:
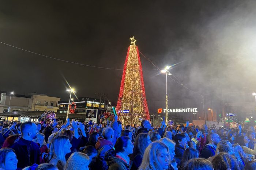
M 84 170 L 84 165 L 89 165 L 90 158 L 88 155 L 82 152 L 74 152 L 68 158 L 67 164 L 64 170 Z

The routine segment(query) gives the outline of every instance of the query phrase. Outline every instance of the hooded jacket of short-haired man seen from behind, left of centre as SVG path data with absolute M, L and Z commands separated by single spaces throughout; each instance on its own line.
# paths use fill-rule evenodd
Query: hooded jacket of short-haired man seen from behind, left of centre
M 98 137 L 98 142 L 96 143 L 96 149 L 98 150 L 98 155 L 96 157 L 97 169 L 108 170 L 106 161 L 104 160 L 106 151 L 112 149 L 113 143 L 109 140 Z

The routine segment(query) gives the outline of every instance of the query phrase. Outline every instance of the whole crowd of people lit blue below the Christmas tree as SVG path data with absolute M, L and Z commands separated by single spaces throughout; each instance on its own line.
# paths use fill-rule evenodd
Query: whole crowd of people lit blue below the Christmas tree
M 256 170 L 255 128 L 1 121 L 0 170 Z

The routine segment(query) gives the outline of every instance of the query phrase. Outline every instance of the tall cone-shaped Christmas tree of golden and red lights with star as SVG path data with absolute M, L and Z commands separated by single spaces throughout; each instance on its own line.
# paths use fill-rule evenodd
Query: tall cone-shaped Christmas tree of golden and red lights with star
M 138 124 L 143 119 L 149 120 L 146 94 L 142 74 L 142 66 L 136 40 L 130 38 L 131 44 L 128 47 L 124 63 L 123 77 L 119 97 L 117 101 L 118 120 L 124 125 Z

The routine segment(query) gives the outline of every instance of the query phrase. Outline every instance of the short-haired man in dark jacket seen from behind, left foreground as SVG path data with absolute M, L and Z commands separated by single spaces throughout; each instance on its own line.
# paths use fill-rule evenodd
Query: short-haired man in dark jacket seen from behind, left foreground
M 41 155 L 38 144 L 32 141 L 36 138 L 38 132 L 37 125 L 31 121 L 27 121 L 22 123 L 20 130 L 22 138 L 11 146 L 16 152 L 18 170 L 23 169 L 26 166 L 31 166 L 34 163 L 39 164 Z

